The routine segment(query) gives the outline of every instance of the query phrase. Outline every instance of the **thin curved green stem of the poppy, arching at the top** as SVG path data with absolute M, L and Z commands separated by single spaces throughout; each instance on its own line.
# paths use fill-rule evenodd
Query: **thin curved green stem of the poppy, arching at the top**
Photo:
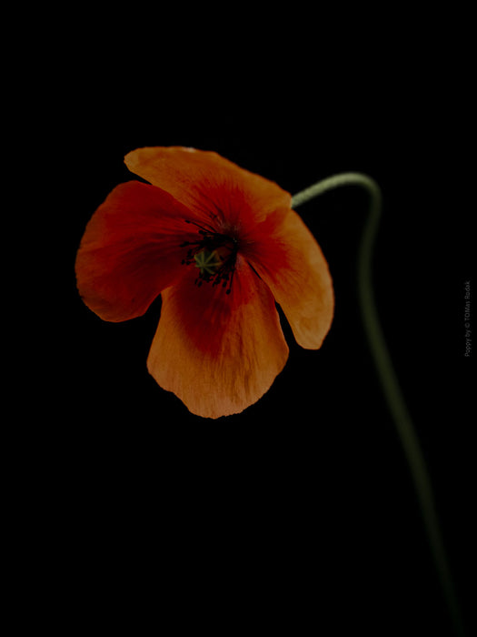
M 363 326 L 373 355 L 374 364 L 382 384 L 383 393 L 393 416 L 405 457 L 412 474 L 412 481 L 422 511 L 422 519 L 429 540 L 432 557 L 441 581 L 442 591 L 457 635 L 463 635 L 461 613 L 454 591 L 451 573 L 444 550 L 439 521 L 435 511 L 431 481 L 422 456 L 421 446 L 412 426 L 412 420 L 402 397 L 402 391 L 393 369 L 383 330 L 376 310 L 372 285 L 372 254 L 374 238 L 381 216 L 381 189 L 371 178 L 361 173 L 343 173 L 299 192 L 292 199 L 292 207 L 318 197 L 339 186 L 364 187 L 370 195 L 370 213 L 364 228 L 358 254 L 358 293 L 363 317 Z

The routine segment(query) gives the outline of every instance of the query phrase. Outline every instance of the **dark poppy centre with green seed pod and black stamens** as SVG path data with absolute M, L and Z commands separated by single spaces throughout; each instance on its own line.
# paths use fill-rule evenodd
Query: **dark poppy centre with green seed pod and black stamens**
M 181 248 L 188 248 L 182 260 L 183 265 L 194 264 L 194 267 L 199 270 L 198 277 L 194 281 L 195 285 L 200 288 L 204 282 L 212 283 L 213 286 L 221 284 L 223 288 L 227 288 L 226 294 L 230 294 L 238 252 L 237 239 L 215 232 L 212 228 L 200 226 L 188 219 L 185 219 L 185 222 L 199 228 L 200 238 L 196 241 L 184 241 L 181 244 Z

